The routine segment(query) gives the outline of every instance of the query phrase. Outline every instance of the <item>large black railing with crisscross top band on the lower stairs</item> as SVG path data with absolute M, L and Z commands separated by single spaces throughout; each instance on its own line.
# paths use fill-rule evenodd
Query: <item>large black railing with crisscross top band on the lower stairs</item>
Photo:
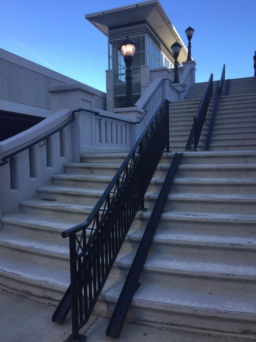
M 164 150 L 169 151 L 169 102 L 161 106 L 143 130 L 120 169 L 85 223 L 62 233 L 69 236 L 71 286 L 59 303 L 53 321 L 63 321 L 72 307 L 70 341 L 88 321 L 101 289 Z

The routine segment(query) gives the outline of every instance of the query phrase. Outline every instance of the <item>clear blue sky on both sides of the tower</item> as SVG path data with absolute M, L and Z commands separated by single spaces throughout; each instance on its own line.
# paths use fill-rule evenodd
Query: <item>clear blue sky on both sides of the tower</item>
M 134 0 L 0 0 L 0 47 L 105 91 L 107 37 L 84 19 Z M 192 26 L 196 81 L 253 76 L 255 0 L 160 0 L 187 45 Z M 187 3 L 187 6 L 186 6 Z

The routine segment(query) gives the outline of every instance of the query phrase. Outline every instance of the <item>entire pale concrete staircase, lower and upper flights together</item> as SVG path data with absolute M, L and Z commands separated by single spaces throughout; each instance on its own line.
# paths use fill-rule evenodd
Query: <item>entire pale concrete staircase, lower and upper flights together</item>
M 231 80 L 229 95 L 220 100 L 211 150 L 184 152 L 128 320 L 256 340 L 253 81 Z M 184 101 L 170 106 L 173 152 L 186 146 L 193 120 L 187 122 L 205 85 L 194 85 Z M 194 92 L 197 87 L 201 90 Z M 238 144 L 230 133 L 241 130 Z M 161 159 L 145 196 L 147 210 L 138 212 L 98 300 L 100 315 L 114 309 L 173 156 Z M 19 213 L 2 217 L 1 287 L 59 301 L 69 284 L 68 241 L 60 232 L 86 219 L 124 157 L 84 155 L 81 163 L 66 164 L 64 174 L 53 176 L 52 185 L 40 187 L 38 198 L 21 201 Z

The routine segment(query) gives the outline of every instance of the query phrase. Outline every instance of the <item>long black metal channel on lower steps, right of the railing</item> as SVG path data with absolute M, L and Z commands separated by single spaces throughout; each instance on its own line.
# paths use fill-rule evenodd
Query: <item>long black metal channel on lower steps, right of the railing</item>
M 173 184 L 181 157 L 182 153 L 175 153 L 174 159 L 162 185 L 157 202 L 154 206 L 153 212 L 150 216 L 147 227 L 140 241 L 138 251 L 136 253 L 136 256 L 134 257 L 132 266 L 125 280 L 118 302 L 107 327 L 107 336 L 118 338 L 120 335 L 122 325 L 127 315 L 129 306 L 132 302 L 134 293 L 137 289 L 138 280 L 140 278 L 154 235 L 156 233 L 158 223 L 162 215 L 165 203 L 167 201 L 171 185 Z

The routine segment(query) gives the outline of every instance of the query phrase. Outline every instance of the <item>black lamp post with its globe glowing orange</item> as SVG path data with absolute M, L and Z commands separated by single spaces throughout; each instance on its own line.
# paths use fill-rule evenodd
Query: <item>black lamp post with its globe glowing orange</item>
M 125 38 L 118 47 L 118 50 L 121 52 L 123 56 L 123 60 L 125 63 L 125 80 L 126 80 L 126 97 L 124 105 L 125 107 L 133 107 L 133 88 L 132 88 L 132 62 L 133 56 L 136 51 L 137 44 L 131 38 Z

